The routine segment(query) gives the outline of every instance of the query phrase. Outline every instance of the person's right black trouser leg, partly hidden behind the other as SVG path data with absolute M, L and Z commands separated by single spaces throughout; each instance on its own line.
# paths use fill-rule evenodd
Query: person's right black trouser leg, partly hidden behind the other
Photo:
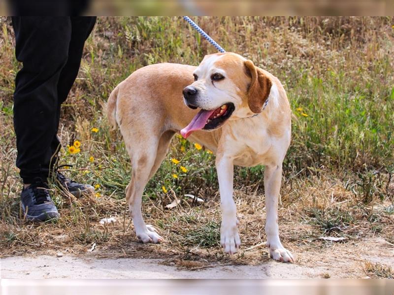
M 86 39 L 89 37 L 96 23 L 96 17 L 71 17 L 71 39 L 68 47 L 68 59 L 66 65 L 60 73 L 58 82 L 58 105 L 56 110 L 56 134 L 51 143 L 53 154 L 57 154 L 60 148 L 60 141 L 57 136 L 60 121 L 61 104 L 66 100 L 68 92 L 74 84 L 78 75 L 83 48 Z M 55 162 L 51 162 L 55 164 Z

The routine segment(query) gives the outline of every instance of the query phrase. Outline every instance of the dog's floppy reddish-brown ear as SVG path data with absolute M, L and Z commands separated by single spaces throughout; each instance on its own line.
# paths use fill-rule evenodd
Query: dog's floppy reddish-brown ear
M 248 89 L 249 109 L 259 114 L 263 111 L 264 102 L 267 100 L 269 91 L 271 91 L 272 82 L 256 67 L 252 60 L 245 61 L 246 74 L 252 78 Z

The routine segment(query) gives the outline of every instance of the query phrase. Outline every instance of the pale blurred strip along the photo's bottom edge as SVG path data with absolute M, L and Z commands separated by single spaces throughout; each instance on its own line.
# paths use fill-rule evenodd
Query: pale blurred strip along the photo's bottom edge
M 30 295 L 393 295 L 394 292 L 393 280 L 4 280 L 0 291 L 21 294 L 26 287 Z

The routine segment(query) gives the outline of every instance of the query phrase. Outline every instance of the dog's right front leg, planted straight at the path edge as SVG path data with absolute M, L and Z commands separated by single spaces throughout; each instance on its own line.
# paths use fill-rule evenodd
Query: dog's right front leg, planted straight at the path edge
M 265 166 L 264 171 L 264 190 L 265 190 L 265 207 L 267 219 L 265 221 L 265 234 L 267 235 L 267 247 L 272 259 L 282 262 L 294 262 L 293 255 L 279 239 L 278 226 L 278 198 L 280 183 L 282 178 L 282 164 Z

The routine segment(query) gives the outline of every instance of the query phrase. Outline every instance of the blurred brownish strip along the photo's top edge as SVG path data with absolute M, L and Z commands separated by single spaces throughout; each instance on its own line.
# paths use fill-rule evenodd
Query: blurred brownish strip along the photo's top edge
M 8 5 L 7 5 L 8 4 Z M 89 7 L 87 15 L 304 15 L 384 16 L 393 15 L 392 0 L 0 0 L 0 14 L 70 14 L 70 5 Z M 19 11 L 19 13 L 18 13 Z M 23 13 L 21 13 L 23 11 Z

